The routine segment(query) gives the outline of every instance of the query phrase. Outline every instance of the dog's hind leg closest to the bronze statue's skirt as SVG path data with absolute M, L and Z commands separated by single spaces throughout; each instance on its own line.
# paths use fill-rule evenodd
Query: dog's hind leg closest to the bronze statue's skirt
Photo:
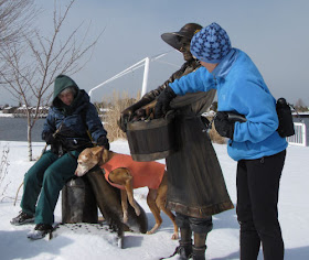
M 178 226 L 175 224 L 175 216 L 172 214 L 171 210 L 169 210 L 166 207 L 167 204 L 167 193 L 168 193 L 168 177 L 167 177 L 167 172 L 162 178 L 162 182 L 158 188 L 158 196 L 156 198 L 156 204 L 158 205 L 158 207 L 169 216 L 169 218 L 172 220 L 173 223 L 173 227 L 174 227 L 174 232 L 172 235 L 172 239 L 178 239 L 179 238 L 179 234 L 178 234 Z

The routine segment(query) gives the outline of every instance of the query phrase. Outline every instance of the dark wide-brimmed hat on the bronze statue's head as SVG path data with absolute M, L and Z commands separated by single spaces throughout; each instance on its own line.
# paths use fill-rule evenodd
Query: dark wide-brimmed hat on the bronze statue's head
M 198 23 L 187 23 L 183 28 L 180 29 L 179 32 L 168 32 L 161 35 L 162 40 L 174 47 L 175 50 L 180 51 L 181 37 L 187 37 L 191 40 L 196 31 L 200 31 L 202 26 Z

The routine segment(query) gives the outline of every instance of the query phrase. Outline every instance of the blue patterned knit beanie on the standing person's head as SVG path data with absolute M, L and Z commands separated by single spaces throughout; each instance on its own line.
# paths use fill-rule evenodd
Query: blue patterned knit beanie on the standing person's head
M 220 63 L 231 50 L 227 33 L 215 22 L 195 33 L 190 45 L 191 53 L 206 63 Z

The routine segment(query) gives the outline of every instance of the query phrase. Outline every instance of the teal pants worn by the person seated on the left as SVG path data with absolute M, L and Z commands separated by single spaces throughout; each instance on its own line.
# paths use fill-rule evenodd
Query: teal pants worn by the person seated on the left
M 25 173 L 21 208 L 26 214 L 35 215 L 35 224 L 54 223 L 60 192 L 74 176 L 78 155 L 79 151 L 72 151 L 58 158 L 46 151 Z

